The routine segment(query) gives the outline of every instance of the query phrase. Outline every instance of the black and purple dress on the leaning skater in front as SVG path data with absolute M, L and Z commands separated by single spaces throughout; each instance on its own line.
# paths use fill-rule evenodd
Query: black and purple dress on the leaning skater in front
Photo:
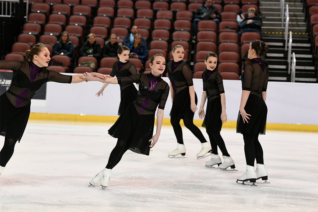
M 108 134 L 124 140 L 131 151 L 149 155 L 149 140 L 153 136 L 156 108 L 159 105 L 159 109 L 164 109 L 169 95 L 169 85 L 152 73 L 117 79 L 119 84 L 138 83 L 139 91 L 136 100 L 119 116 L 108 130 Z

